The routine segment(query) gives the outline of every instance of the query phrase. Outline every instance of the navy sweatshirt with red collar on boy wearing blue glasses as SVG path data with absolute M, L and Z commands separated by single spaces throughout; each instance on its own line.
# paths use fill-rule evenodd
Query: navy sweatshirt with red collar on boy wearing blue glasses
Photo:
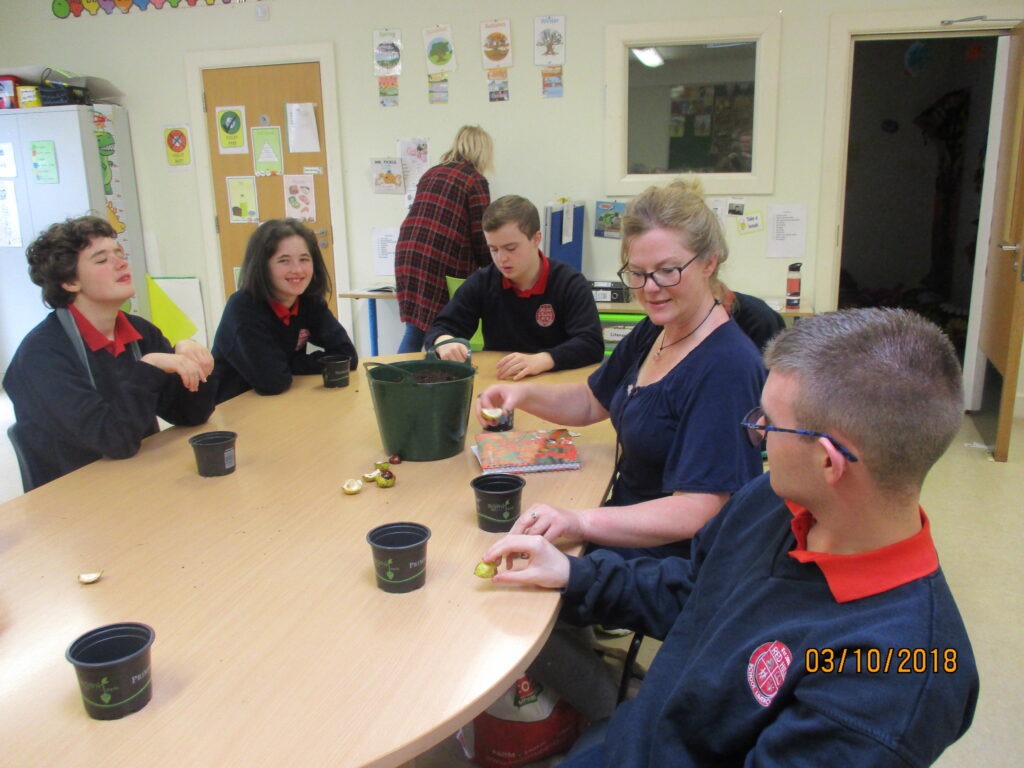
M 764 475 L 690 560 L 571 560 L 564 617 L 664 644 L 604 742 L 563 766 L 906 768 L 967 731 L 978 671 L 924 513 L 916 536 L 847 556 L 807 552 L 807 520 Z

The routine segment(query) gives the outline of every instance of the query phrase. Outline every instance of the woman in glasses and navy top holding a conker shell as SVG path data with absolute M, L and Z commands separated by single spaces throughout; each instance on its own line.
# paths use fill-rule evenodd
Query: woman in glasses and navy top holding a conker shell
M 513 532 L 589 542 L 628 556 L 686 555 L 730 494 L 762 471 L 737 426 L 760 401 L 764 365 L 715 297 L 728 247 L 695 180 L 649 187 L 623 217 L 618 276 L 647 317 L 586 382 L 499 384 L 477 400 L 566 426 L 611 419 L 621 455 L 604 506 L 537 504 Z

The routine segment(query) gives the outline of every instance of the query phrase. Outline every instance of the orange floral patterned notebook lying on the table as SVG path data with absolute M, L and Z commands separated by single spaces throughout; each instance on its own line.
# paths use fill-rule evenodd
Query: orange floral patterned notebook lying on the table
M 481 432 L 473 453 L 485 475 L 580 469 L 580 456 L 567 429 Z

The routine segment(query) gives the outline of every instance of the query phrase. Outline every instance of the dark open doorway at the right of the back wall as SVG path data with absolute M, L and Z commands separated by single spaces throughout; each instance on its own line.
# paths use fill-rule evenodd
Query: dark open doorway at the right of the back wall
M 963 357 L 996 38 L 854 45 L 839 306 L 931 318 Z

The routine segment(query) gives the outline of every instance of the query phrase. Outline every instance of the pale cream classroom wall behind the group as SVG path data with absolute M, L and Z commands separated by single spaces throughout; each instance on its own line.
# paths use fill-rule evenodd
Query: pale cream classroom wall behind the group
M 257 20 L 256 6 L 269 10 Z M 981 8 L 991 16 L 1006 16 L 1013 6 Z M 410 3 L 377 0 L 256 0 L 225 6 L 165 6 L 142 12 L 83 14 L 57 19 L 47 2 L 5 0 L 0 4 L 0 69 L 33 65 L 68 68 L 103 78 L 124 93 L 131 115 L 132 137 L 147 246 L 159 248 L 165 271 L 196 274 L 206 283 L 207 255 L 200 230 L 202 216 L 197 189 L 209 180 L 195 171 L 169 168 L 162 146 L 163 128 L 188 121 L 189 105 L 183 55 L 194 51 L 298 45 L 328 42 L 337 61 L 341 151 L 350 255 L 351 285 L 374 281 L 371 229 L 396 226 L 403 215 L 398 196 L 369 193 L 368 160 L 394 153 L 395 139 L 427 135 L 435 153 L 451 142 L 456 129 L 478 123 L 495 137 L 497 170 L 492 178 L 495 197 L 519 194 L 543 205 L 566 196 L 593 203 L 603 199 L 601 147 L 604 115 L 604 31 L 608 25 L 641 22 L 707 19 L 772 14 L 781 11 L 778 146 L 775 189 L 752 197 L 750 208 L 767 210 L 773 203 L 807 205 L 807 257 L 804 259 L 805 296 L 813 304 L 834 301 L 815 297 L 815 254 L 819 251 L 825 77 L 828 28 L 833 13 L 893 12 L 934 8 L 936 19 L 965 15 L 963 0 L 734 0 L 723 5 L 711 0 L 647 0 L 622 3 L 609 0 L 519 0 L 516 3 L 458 0 Z M 970 8 L 972 14 L 977 8 Z M 540 70 L 526 45 L 535 16 L 560 13 L 567 17 L 565 96 L 541 95 Z M 1018 13 L 1019 15 L 1019 13 Z M 510 72 L 509 102 L 488 103 L 486 80 L 480 66 L 479 24 L 511 18 L 515 67 Z M 431 105 L 426 100 L 426 68 L 422 30 L 451 24 L 459 70 L 451 78 L 451 102 Z M 372 69 L 372 39 L 376 29 L 399 29 L 404 44 L 399 79 L 399 103 L 382 109 L 377 103 Z M 201 126 L 191 126 L 193 131 Z M 588 211 L 592 226 L 593 211 Z M 764 258 L 763 234 L 729 234 L 732 256 L 724 279 L 740 291 L 779 295 L 785 281 L 784 259 Z M 822 250 L 831 252 L 831 244 Z M 340 249 L 339 249 L 340 250 Z M 617 244 L 589 238 L 584 271 L 607 278 L 617 268 Z M 365 323 L 360 309 L 357 323 Z M 382 341 L 389 351 L 395 340 Z

